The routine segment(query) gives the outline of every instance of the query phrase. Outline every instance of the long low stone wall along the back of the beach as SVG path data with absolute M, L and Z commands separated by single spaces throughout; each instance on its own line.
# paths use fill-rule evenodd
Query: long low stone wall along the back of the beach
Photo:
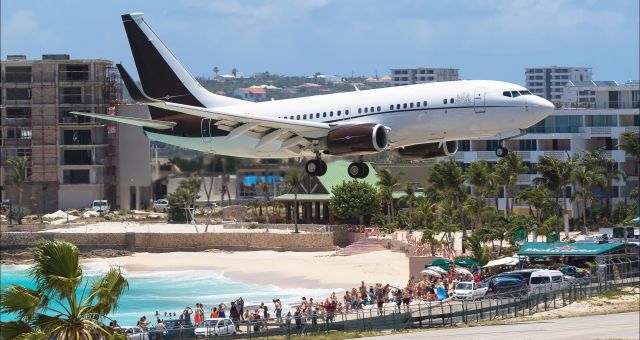
M 328 251 L 335 249 L 333 233 L 1 233 L 2 250 L 25 249 L 38 240 L 64 240 L 82 250 L 129 251 L 282 250 Z

